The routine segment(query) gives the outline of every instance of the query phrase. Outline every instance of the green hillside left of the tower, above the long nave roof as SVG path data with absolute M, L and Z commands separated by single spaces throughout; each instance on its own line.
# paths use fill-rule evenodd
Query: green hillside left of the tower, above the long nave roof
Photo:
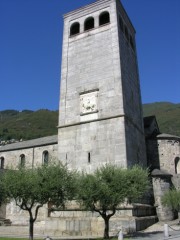
M 1 140 L 28 140 L 57 134 L 58 111 L 5 110 L 0 112 Z

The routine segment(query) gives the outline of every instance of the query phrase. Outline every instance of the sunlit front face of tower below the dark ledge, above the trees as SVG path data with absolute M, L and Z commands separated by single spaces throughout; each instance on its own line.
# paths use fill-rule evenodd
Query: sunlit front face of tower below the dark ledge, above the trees
M 127 167 L 123 161 L 126 158 L 123 129 L 123 118 L 62 128 L 59 158 L 70 169 L 86 172 L 93 172 L 106 163 Z

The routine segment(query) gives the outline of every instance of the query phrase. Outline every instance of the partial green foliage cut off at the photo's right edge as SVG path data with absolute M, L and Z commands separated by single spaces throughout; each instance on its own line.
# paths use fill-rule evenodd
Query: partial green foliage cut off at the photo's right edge
M 180 212 L 180 190 L 172 189 L 166 192 L 162 197 L 162 204 Z

